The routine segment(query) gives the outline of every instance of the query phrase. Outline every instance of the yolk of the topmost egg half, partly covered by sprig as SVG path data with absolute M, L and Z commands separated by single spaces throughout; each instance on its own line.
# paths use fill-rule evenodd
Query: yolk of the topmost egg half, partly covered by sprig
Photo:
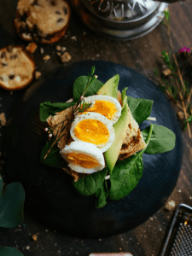
M 87 108 L 86 111 L 88 112 L 96 112 L 101 113 L 107 119 L 113 119 L 114 114 L 117 112 L 115 105 L 112 102 L 106 101 L 95 101 L 95 104 L 92 108 Z

